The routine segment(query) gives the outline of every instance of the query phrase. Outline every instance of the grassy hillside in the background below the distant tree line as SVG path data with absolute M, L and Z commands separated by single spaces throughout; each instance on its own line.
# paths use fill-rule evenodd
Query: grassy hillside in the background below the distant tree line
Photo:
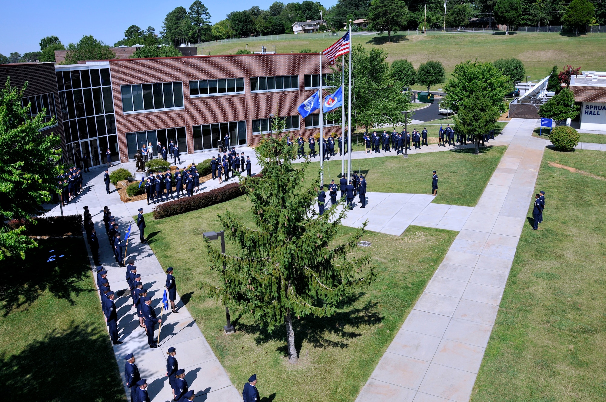
M 296 35 L 290 35 L 298 39 Z M 205 55 L 235 54 L 238 49 L 253 51 L 261 50 L 264 45 L 273 50 L 276 45 L 278 53 L 299 52 L 301 49 L 323 50 L 333 44 L 338 36 L 318 35 L 317 38 L 303 40 L 271 40 L 209 42 L 198 45 L 203 47 Z M 581 36 L 560 35 L 559 33 L 516 33 L 516 35 L 488 35 L 479 33 L 448 33 L 436 35 L 392 35 L 393 41 L 387 43 L 387 35 L 354 35 L 353 45 L 362 44 L 367 49 L 381 47 L 388 53 L 387 61 L 395 59 L 408 59 L 415 68 L 429 59 L 442 61 L 448 76 L 453 72 L 454 65 L 465 60 L 494 61 L 499 58 L 516 57 L 524 62 L 526 75 L 531 80 L 542 79 L 547 76 L 554 64 L 559 69 L 567 64 L 574 67 L 581 66 L 583 70 L 599 71 L 604 67 L 606 47 L 603 33 L 590 33 Z M 438 90 L 442 85 L 435 85 L 432 90 Z M 423 89 L 415 85 L 413 89 Z

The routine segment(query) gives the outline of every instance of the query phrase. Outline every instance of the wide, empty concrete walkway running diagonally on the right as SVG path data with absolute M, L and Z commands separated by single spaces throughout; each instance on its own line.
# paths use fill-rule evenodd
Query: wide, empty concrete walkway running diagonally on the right
M 507 283 L 545 141 L 512 119 L 511 144 L 357 402 L 467 402 Z

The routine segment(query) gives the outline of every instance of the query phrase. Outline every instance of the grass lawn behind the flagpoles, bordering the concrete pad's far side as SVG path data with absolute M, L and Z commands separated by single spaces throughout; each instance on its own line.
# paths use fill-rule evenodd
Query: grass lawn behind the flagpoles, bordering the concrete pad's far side
M 351 169 L 366 177 L 369 192 L 388 193 L 431 193 L 431 175 L 436 170 L 439 177 L 439 191 L 434 203 L 473 207 L 478 203 L 490 176 L 501 161 L 507 147 L 480 148 L 480 155 L 473 155 L 473 149 L 444 152 L 418 153 L 407 159 L 399 156 L 382 158 L 352 159 Z M 347 161 L 345 161 L 347 169 Z M 310 164 L 306 180 L 311 183 L 319 171 L 319 162 Z M 341 173 L 341 158 L 324 162 L 324 186 L 331 179 L 338 183 Z

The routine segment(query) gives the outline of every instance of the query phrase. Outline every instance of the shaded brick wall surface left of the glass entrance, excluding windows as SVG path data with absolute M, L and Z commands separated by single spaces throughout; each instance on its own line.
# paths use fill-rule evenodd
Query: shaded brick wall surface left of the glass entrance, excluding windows
M 67 147 L 65 146 L 65 135 L 63 133 L 55 63 L 13 63 L 0 65 L 0 84 L 2 87 L 4 87 L 9 77 L 10 85 L 19 89 L 27 82 L 24 96 L 43 95 L 45 93 L 55 94 L 55 113 L 58 125 L 47 130 L 42 130 L 42 134 L 55 133 L 59 135 L 61 137 L 61 148 L 65 152 Z

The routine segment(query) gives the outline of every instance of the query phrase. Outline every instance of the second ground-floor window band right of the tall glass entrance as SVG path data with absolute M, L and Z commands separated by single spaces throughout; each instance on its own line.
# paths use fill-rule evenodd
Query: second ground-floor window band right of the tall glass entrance
M 229 137 L 230 147 L 246 145 L 246 122 L 204 124 L 193 126 L 193 150 L 217 149 L 219 141 L 225 146 L 225 136 Z

